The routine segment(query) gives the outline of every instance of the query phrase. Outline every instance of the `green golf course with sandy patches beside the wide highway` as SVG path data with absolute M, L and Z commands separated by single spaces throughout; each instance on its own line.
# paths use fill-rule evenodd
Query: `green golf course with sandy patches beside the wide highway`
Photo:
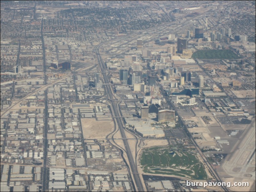
M 145 173 L 207 179 L 202 163 L 187 150 L 174 151 L 170 147 L 152 147 L 143 151 L 140 164 Z

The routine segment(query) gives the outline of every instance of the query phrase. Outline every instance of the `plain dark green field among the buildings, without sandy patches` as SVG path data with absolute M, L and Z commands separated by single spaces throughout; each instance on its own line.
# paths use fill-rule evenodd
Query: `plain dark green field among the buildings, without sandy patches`
M 194 59 L 238 59 L 239 57 L 229 49 L 197 50 L 192 54 Z

